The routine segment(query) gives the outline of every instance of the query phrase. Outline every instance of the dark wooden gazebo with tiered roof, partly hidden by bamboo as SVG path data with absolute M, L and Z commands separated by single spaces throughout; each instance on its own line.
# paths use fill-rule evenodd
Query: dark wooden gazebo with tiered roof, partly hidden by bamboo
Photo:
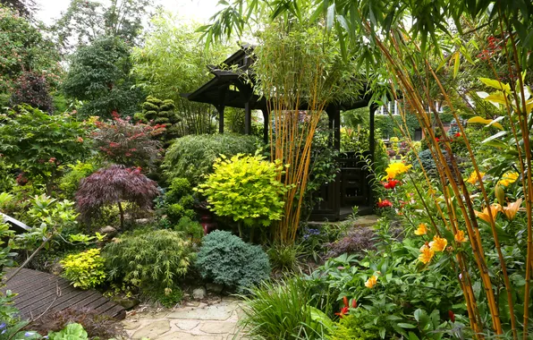
M 207 81 L 199 89 L 182 94 L 182 97 L 193 102 L 207 103 L 216 107 L 218 112 L 218 132 L 224 133 L 224 108 L 237 107 L 244 109 L 244 133 L 251 133 L 251 113 L 260 110 L 263 114 L 263 139 L 269 140 L 269 112 L 266 98 L 259 97 L 250 81 L 243 74 L 250 72 L 253 64 L 253 47 L 241 47 L 239 51 L 228 57 L 222 64 L 208 65 L 214 78 Z M 360 95 L 341 103 L 326 106 L 329 129 L 332 131 L 331 143 L 335 149 L 341 149 L 341 112 L 368 106 L 371 94 L 363 89 Z M 305 110 L 305 107 L 301 107 Z M 376 106 L 369 108 L 370 136 L 369 150 L 364 155 L 373 162 L 375 149 L 374 115 Z M 352 207 L 359 207 L 360 215 L 368 215 L 373 210 L 371 174 L 366 163 L 357 157 L 358 152 L 342 153 L 339 159 L 341 172 L 333 183 L 326 183 L 317 191 L 322 200 L 313 208 L 310 219 L 313 221 L 337 221 L 351 215 Z M 360 154 L 360 153 L 359 153 Z

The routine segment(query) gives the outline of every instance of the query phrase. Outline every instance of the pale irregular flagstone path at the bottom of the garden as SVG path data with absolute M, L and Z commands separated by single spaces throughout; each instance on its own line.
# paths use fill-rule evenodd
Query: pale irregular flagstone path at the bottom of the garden
M 237 300 L 224 297 L 221 302 L 215 304 L 189 304 L 190 306 L 173 310 L 130 313 L 123 321 L 124 328 L 131 339 L 244 339 L 237 334 L 240 314 L 240 304 Z

